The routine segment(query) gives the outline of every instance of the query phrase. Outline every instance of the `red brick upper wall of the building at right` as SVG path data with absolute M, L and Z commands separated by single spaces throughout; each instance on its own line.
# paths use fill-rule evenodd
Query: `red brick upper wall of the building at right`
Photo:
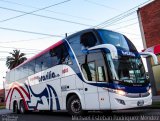
M 160 44 L 160 0 L 140 8 L 138 12 L 141 16 L 147 48 Z

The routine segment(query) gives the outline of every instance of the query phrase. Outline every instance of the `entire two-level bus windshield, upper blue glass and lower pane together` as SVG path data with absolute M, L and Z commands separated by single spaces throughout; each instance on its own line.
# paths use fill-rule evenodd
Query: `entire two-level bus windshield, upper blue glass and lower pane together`
M 98 33 L 104 44 L 112 44 L 118 51 L 117 59 L 106 52 L 111 78 L 126 83 L 145 83 L 145 69 L 132 42 L 126 36 L 109 30 L 99 29 Z

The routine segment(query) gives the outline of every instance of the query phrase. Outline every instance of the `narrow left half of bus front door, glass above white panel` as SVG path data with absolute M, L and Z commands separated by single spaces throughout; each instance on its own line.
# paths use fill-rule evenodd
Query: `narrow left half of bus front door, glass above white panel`
M 81 57 L 82 59 L 82 57 Z M 84 76 L 84 97 L 87 110 L 99 109 L 98 87 L 96 86 L 96 66 L 94 54 L 84 56 L 85 62 L 81 64 L 81 70 Z

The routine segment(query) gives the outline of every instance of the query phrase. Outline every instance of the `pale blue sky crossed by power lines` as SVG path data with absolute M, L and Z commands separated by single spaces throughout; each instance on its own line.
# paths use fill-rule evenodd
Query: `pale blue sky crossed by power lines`
M 14 49 L 19 49 L 30 58 L 65 38 L 66 33 L 70 35 L 93 28 L 146 1 L 148 0 L 0 0 L 0 88 L 7 71 L 6 57 Z M 136 12 L 112 22 L 104 29 L 126 35 L 138 51 L 143 50 Z

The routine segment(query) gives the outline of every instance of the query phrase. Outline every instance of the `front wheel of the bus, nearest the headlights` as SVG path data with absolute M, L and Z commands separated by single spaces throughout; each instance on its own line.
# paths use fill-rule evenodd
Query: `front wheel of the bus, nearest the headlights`
M 67 110 L 70 115 L 84 115 L 84 110 L 82 110 L 81 101 L 76 95 L 73 95 L 68 99 Z

